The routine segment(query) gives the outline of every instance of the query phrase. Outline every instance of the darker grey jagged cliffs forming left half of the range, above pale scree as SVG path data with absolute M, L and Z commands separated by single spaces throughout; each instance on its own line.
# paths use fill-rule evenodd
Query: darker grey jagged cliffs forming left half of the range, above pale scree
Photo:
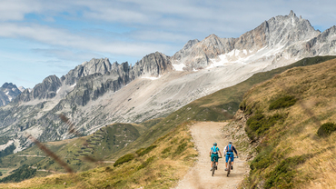
M 170 57 L 156 52 L 144 56 L 133 67 L 128 63 L 115 62 L 112 65 L 107 58 L 92 59 L 76 66 L 61 78 L 50 75 L 31 91 L 26 89 L 19 94 L 13 104 L 0 108 L 0 137 L 3 134 L 15 136 L 15 140 L 20 141 L 19 148 L 30 144 L 25 133 L 34 134 L 43 141 L 71 137 L 71 134 L 67 135 L 68 125 L 61 122 L 58 114 L 67 114 L 79 120 L 76 124 L 86 123 L 87 119 L 92 118 L 90 114 L 83 113 L 85 105 L 106 93 L 117 92 L 134 79 L 159 77 L 172 69 Z M 104 119 L 102 121 L 99 124 L 107 124 Z M 92 126 L 84 125 L 83 132 Z

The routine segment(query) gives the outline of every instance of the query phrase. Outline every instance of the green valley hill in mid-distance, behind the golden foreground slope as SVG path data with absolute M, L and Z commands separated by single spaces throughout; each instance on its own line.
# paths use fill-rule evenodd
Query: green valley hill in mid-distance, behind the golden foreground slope
M 110 154 L 137 139 L 140 132 L 143 133 L 146 130 L 146 126 L 151 126 L 158 121 L 152 120 L 141 125 L 111 124 L 88 136 L 49 142 L 44 145 L 54 154 L 62 157 L 63 161 L 69 164 L 74 171 L 84 171 L 96 166 L 90 161 L 85 161 L 86 155 L 95 160 L 104 160 Z M 56 164 L 51 157 L 45 156 L 36 145 L 17 154 L 7 155 L 0 160 L 0 171 L 4 173 L 3 177 L 25 164 L 33 166 L 37 170 L 64 172 L 61 165 Z

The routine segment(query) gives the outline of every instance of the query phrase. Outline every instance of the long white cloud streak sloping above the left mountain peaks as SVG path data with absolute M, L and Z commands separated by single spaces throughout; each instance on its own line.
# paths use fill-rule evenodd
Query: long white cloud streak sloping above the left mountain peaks
M 102 38 L 84 34 L 72 34 L 64 29 L 56 29 L 44 25 L 18 25 L 5 23 L 0 25 L 0 36 L 28 38 L 49 45 L 61 45 L 76 49 L 104 52 L 115 55 L 145 55 L 158 50 L 165 51 L 167 45 L 144 42 L 105 41 Z

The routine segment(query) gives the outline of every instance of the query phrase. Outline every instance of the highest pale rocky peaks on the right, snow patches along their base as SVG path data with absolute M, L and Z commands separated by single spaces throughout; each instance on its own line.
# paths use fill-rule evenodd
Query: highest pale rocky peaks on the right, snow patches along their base
M 201 42 L 188 42 L 171 61 L 175 70 L 189 71 L 236 63 L 254 64 L 265 59 L 270 65 L 313 55 L 333 55 L 334 40 L 334 26 L 321 34 L 308 20 L 291 11 L 290 15 L 272 17 L 238 38 L 209 35 Z

